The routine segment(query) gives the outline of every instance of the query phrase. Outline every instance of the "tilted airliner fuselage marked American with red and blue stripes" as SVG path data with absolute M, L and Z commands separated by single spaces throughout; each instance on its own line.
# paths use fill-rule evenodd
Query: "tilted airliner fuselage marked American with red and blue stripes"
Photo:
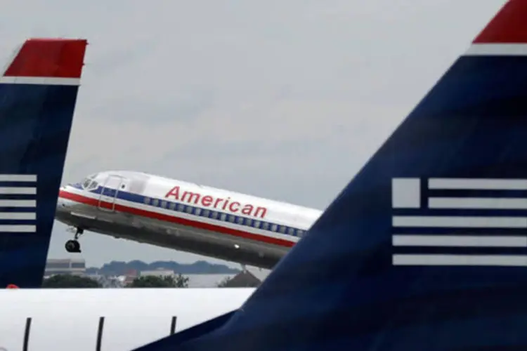
M 320 213 L 146 173 L 108 171 L 61 187 L 56 218 L 83 230 L 271 269 Z

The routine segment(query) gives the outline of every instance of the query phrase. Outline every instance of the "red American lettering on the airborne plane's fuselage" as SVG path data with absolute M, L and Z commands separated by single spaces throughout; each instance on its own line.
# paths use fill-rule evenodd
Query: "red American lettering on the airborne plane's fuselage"
M 207 194 L 200 194 L 199 192 L 187 192 L 180 190 L 178 186 L 173 187 L 164 196 L 167 199 L 174 199 L 176 201 L 183 201 L 187 204 L 194 204 L 203 207 L 216 208 L 232 213 L 242 213 L 246 216 L 253 216 L 256 218 L 265 218 L 267 208 L 261 206 L 254 206 L 253 204 L 242 204 L 238 201 L 226 197 L 214 197 Z

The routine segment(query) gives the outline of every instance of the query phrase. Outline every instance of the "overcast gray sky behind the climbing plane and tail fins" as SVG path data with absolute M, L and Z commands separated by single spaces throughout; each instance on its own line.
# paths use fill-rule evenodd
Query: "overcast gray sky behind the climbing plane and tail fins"
M 0 55 L 89 40 L 63 183 L 131 169 L 323 209 L 504 3 L 4 0 Z M 56 223 L 49 256 L 71 236 Z M 201 259 L 91 232 L 82 248 Z

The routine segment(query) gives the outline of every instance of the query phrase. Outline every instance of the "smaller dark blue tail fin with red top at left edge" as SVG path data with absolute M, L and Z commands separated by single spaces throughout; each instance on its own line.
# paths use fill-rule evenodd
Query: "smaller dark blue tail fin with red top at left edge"
M 28 39 L 0 77 L 0 288 L 41 286 L 84 39 Z

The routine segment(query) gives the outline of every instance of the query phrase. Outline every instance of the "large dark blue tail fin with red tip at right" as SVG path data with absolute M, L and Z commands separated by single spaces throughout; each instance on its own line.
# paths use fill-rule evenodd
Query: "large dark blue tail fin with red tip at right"
M 141 350 L 527 350 L 527 0 L 214 331 Z

